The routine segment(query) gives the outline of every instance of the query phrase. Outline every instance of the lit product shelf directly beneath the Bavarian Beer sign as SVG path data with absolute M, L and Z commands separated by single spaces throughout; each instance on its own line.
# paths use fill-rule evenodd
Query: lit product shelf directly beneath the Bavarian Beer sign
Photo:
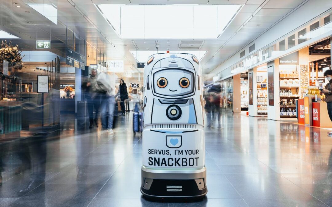
M 300 76 L 297 65 L 280 65 L 280 118 L 296 117 L 296 100 L 300 97 Z

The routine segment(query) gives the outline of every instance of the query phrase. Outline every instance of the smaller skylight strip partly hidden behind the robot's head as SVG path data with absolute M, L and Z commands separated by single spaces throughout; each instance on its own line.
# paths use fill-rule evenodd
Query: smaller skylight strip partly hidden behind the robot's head
M 157 50 L 141 50 L 137 51 L 137 57 L 136 57 L 136 51 L 135 50 L 130 50 L 130 53 L 136 58 L 137 62 L 146 62 L 147 59 L 150 57 L 150 55 L 156 54 L 156 53 L 163 53 L 166 51 L 157 51 Z M 190 50 L 190 51 L 183 51 L 183 50 L 174 50 L 170 51 L 170 53 L 189 53 L 195 55 L 198 60 L 202 60 L 204 55 L 207 53 L 207 51 L 203 50 Z

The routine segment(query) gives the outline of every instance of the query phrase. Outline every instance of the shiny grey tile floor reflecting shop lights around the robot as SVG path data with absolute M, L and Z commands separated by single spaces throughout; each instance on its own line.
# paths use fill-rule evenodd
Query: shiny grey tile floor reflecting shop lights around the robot
M 66 120 L 58 133 L 1 144 L 0 206 L 332 206 L 326 129 L 228 113 L 221 129 L 205 129 L 207 196 L 146 201 L 131 116 L 119 117 L 114 136 Z

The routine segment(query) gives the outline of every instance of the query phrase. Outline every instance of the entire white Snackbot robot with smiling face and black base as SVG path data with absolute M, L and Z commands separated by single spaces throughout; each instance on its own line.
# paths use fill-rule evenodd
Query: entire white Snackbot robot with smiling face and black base
M 141 192 L 146 197 L 207 193 L 201 77 L 192 54 L 154 54 L 145 64 Z

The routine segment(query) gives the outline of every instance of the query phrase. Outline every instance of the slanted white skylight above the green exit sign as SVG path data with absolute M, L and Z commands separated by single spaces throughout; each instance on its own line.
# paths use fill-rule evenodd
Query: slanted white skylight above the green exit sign
M 27 3 L 31 8 L 39 12 L 54 24 L 58 24 L 58 9 L 54 4 L 34 4 Z

